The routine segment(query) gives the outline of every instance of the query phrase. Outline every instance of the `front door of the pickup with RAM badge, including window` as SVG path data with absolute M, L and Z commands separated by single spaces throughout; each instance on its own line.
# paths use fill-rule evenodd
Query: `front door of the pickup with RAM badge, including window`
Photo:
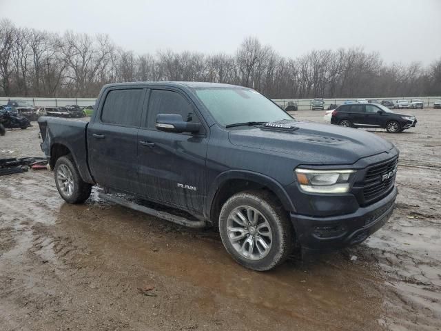
M 181 114 L 184 121 L 202 123 L 185 93 L 173 88 L 150 90 L 138 135 L 139 193 L 201 213 L 205 199 L 207 127 L 200 134 L 158 131 L 157 114 Z

